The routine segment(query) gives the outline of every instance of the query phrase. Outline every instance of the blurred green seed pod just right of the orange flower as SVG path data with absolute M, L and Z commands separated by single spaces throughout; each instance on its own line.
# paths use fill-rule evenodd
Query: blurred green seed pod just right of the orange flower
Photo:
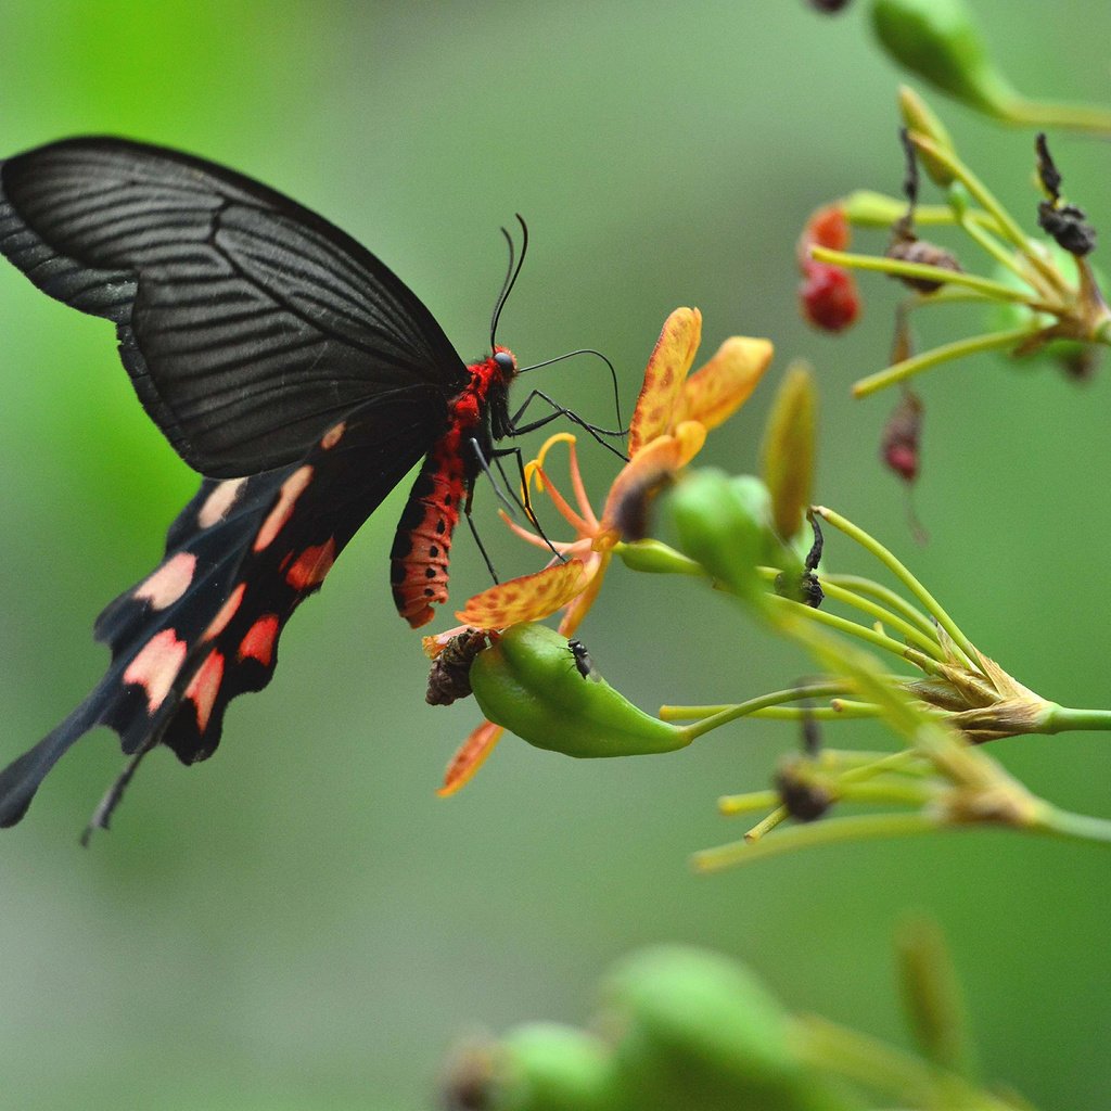
M 762 599 L 767 590 L 757 568 L 782 558 L 768 488 L 749 474 L 728 478 L 707 469 L 680 482 L 669 506 L 683 552 L 738 597 Z

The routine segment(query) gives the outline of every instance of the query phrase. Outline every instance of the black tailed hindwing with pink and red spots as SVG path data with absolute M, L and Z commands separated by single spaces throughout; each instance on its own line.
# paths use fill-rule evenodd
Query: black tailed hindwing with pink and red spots
M 19 821 L 47 772 L 94 725 L 116 730 L 126 753 L 164 743 L 186 763 L 210 755 L 228 702 L 270 681 L 293 610 L 446 420 L 437 391 L 393 391 L 332 426 L 296 463 L 204 479 L 170 527 L 159 567 L 98 618 L 97 638 L 112 651 L 103 679 L 0 772 L 0 825 Z

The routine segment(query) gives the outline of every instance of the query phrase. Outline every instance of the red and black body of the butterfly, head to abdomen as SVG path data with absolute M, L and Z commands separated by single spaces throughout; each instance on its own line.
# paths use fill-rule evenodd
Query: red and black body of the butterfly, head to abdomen
M 493 354 L 506 353 L 502 347 Z M 478 474 L 472 440 L 489 457 L 491 404 L 504 404 L 516 374 L 493 357 L 471 363 L 470 381 L 449 402 L 448 430 L 432 444 L 413 483 L 390 551 L 390 581 L 398 612 L 413 629 L 432 620 L 432 607 L 448 600 L 451 538 Z

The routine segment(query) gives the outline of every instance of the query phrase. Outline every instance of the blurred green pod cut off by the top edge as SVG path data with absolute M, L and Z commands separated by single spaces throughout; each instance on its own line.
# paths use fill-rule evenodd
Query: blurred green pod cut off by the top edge
M 1019 96 L 962 0 L 874 0 L 872 28 L 897 62 L 943 92 L 989 116 L 1011 114 Z

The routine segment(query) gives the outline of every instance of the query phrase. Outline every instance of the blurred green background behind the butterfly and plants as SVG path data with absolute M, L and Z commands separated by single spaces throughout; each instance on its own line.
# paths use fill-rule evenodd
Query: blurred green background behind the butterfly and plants
M 1105 3 L 1062 0 L 1051 19 L 1014 0 L 975 9 L 1024 91 L 1108 96 Z M 533 247 L 503 341 L 526 362 L 603 349 L 627 411 L 677 304 L 702 309 L 707 354 L 733 332 L 771 337 L 772 381 L 794 357 L 817 366 L 820 499 L 909 559 L 1023 682 L 1107 705 L 1105 374 L 1077 388 L 984 358 L 924 379 L 917 509 L 931 539 L 919 548 L 877 460 L 895 397 L 848 397 L 885 361 L 898 290 L 865 281 L 864 322 L 840 340 L 797 318 L 807 213 L 860 186 L 893 191 L 902 176 L 899 76 L 864 16 L 858 4 L 823 19 L 802 0 L 11 0 L 2 146 L 110 132 L 237 167 L 379 253 L 467 357 L 483 349 L 502 278 L 498 228 L 521 212 Z M 1032 227 L 1031 136 L 933 103 Z M 1107 229 L 1107 144 L 1062 137 L 1053 150 L 1070 198 Z M 920 334 L 974 328 L 958 313 Z M 101 674 L 91 622 L 154 565 L 194 478 L 142 416 L 107 323 L 6 267 L 0 334 L 7 760 Z M 589 360 L 534 384 L 612 417 Z M 751 469 L 770 396 L 765 384 L 703 458 Z M 584 454 L 604 489 L 612 460 Z M 534 569 L 502 537 L 493 497 L 479 498 L 498 565 Z M 790 1005 L 902 1040 L 890 939 L 908 909 L 951 940 L 985 1074 L 1045 1108 L 1102 1103 L 1111 870 L 1097 849 L 978 832 L 698 879 L 688 853 L 742 831 L 717 817 L 717 795 L 763 785 L 798 743 L 772 723 L 614 762 L 507 739 L 466 791 L 438 800 L 478 718 L 469 703 L 423 703 L 419 639 L 387 585 L 400 508 L 396 494 L 298 615 L 274 682 L 233 704 L 214 759 L 186 770 L 157 753 L 112 833 L 82 851 L 77 834 L 120 765 L 98 732 L 6 832 L 0 1104 L 429 1107 L 456 1040 L 524 1019 L 581 1021 L 599 974 L 651 940 L 738 954 Z M 828 554 L 844 568 L 850 551 L 833 538 Z M 461 534 L 456 600 L 486 583 Z M 444 613 L 436 628 L 451 623 Z M 749 697 L 809 668 L 697 584 L 620 570 L 582 637 L 607 677 L 653 709 Z M 1108 814 L 1109 744 L 1067 735 L 994 752 L 1062 805 Z

